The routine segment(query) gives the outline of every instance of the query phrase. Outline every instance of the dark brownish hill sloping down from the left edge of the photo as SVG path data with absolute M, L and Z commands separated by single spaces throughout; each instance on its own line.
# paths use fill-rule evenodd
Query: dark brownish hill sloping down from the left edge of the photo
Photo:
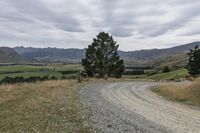
M 8 47 L 0 47 L 0 63 L 22 63 L 26 60 L 15 50 Z

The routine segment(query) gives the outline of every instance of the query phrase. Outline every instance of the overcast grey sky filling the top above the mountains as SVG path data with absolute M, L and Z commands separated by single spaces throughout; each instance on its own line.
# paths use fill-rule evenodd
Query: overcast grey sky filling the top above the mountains
M 0 0 L 0 46 L 85 48 L 98 32 L 121 50 L 200 40 L 200 0 Z

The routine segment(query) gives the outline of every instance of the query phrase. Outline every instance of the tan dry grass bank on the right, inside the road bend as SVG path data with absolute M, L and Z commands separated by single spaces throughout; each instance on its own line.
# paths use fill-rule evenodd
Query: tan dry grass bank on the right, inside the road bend
M 169 84 L 152 88 L 152 91 L 170 100 L 200 106 L 200 79 L 193 83 Z

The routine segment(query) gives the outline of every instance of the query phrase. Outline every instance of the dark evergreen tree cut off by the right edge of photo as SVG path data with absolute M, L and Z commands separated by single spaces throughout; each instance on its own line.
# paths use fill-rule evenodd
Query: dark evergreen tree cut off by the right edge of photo
M 195 49 L 191 49 L 188 53 L 189 62 L 187 64 L 187 69 L 191 75 L 200 74 L 200 49 L 198 46 Z

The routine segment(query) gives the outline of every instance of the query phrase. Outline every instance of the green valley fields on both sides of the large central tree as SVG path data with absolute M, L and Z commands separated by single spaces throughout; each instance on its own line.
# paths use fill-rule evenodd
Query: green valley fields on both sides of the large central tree
M 83 71 L 81 64 L 49 64 L 44 66 L 34 65 L 11 65 L 0 66 L 0 80 L 9 77 L 22 76 L 24 78 L 34 76 L 55 76 L 58 79 L 62 77 L 75 77 L 79 71 Z M 145 71 L 141 75 L 123 75 L 123 79 L 151 79 L 151 80 L 179 80 L 188 76 L 188 71 L 184 68 L 167 73 L 157 72 L 148 74 L 153 70 Z

